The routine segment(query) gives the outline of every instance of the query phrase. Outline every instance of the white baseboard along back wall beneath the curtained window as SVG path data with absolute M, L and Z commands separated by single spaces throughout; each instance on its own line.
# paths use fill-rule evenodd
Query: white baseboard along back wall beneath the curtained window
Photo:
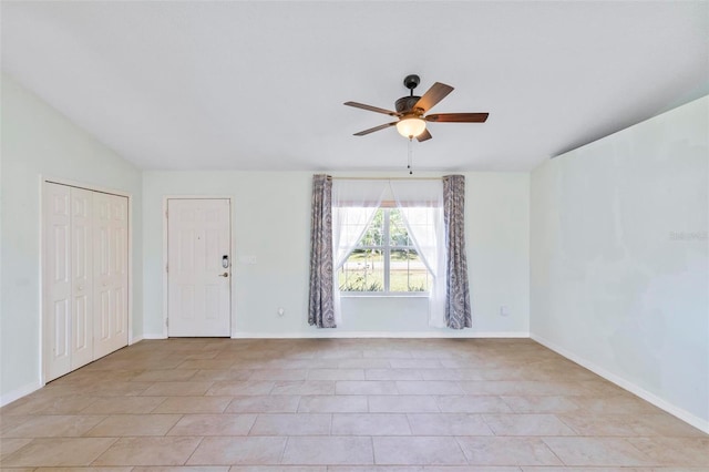
M 520 331 L 339 331 L 337 329 L 318 329 L 299 332 L 258 332 L 239 331 L 232 335 L 232 339 L 316 339 L 316 338 L 528 338 L 528 332 Z

